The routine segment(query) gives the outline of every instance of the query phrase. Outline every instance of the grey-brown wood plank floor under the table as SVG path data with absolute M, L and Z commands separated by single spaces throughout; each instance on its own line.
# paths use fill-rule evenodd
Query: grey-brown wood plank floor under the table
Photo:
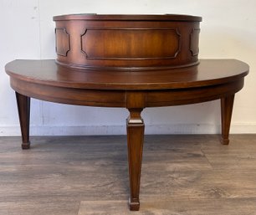
M 125 136 L 0 137 L 0 215 L 256 214 L 256 135 L 146 136 L 129 212 Z

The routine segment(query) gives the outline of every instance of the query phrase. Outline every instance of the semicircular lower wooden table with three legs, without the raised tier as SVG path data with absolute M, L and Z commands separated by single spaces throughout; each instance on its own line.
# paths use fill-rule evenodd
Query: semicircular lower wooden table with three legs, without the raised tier
M 30 98 L 129 110 L 126 120 L 131 210 L 139 210 L 141 159 L 146 107 L 187 105 L 221 100 L 222 138 L 228 144 L 235 93 L 243 88 L 248 64 L 235 59 L 201 59 L 180 69 L 71 69 L 54 60 L 14 60 L 6 65 L 16 92 L 22 148 L 28 149 Z M 72 71 L 71 71 L 72 70 Z

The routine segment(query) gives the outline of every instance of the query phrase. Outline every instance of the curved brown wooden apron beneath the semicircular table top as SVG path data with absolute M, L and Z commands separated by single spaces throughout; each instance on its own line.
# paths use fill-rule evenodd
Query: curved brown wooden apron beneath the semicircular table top
M 13 90 L 38 100 L 47 100 L 69 105 L 101 107 L 127 107 L 127 95 L 138 94 L 143 98 L 141 109 L 146 107 L 187 105 L 209 100 L 218 100 L 233 95 L 243 88 L 243 78 L 223 84 L 213 84 L 195 88 L 169 90 L 90 90 L 35 84 L 11 77 Z M 136 97 L 135 97 L 136 98 Z

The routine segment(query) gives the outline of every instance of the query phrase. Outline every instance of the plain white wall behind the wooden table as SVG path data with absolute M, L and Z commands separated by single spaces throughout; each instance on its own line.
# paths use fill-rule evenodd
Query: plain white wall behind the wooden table
M 53 16 L 67 13 L 182 13 L 202 16 L 201 59 L 250 65 L 235 98 L 232 133 L 256 132 L 255 0 L 0 0 L 0 136 L 20 135 L 18 111 L 4 65 L 13 59 L 55 59 Z M 143 111 L 148 134 L 219 133 L 219 101 Z M 125 109 L 32 100 L 31 135 L 125 134 Z

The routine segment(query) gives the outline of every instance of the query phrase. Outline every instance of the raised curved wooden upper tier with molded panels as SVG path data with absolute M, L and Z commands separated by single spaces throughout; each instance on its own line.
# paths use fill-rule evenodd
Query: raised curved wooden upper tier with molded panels
M 171 69 L 198 64 L 200 17 L 54 17 L 58 64 L 82 69 Z

